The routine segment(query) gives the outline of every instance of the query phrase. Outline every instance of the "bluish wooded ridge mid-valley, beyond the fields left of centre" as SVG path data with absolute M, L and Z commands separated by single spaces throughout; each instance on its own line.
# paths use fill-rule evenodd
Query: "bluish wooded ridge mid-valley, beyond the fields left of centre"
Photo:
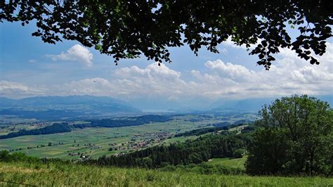
M 73 124 L 74 128 L 84 129 L 86 127 L 129 127 L 150 122 L 167 122 L 171 120 L 171 116 L 166 115 L 143 115 L 138 117 L 128 117 L 126 119 L 103 119 L 90 120 L 90 124 Z

